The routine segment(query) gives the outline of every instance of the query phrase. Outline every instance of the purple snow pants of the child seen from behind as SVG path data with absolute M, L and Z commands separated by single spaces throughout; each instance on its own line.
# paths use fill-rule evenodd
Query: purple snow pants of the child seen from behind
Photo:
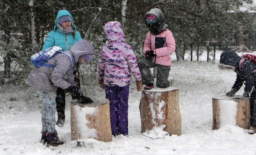
M 106 99 L 110 101 L 112 135 L 128 135 L 128 96 L 130 85 L 124 87 L 105 85 Z

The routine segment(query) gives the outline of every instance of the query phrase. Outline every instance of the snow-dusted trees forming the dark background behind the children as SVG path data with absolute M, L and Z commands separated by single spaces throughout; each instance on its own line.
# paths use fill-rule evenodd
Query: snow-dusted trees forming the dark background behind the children
M 42 49 L 44 38 L 53 30 L 57 12 L 62 9 L 72 14 L 82 38 L 94 46 L 94 62 L 81 68 L 81 81 L 92 91 L 97 81 L 98 53 L 106 42 L 106 22 L 122 23 L 126 42 L 140 59 L 148 32 L 144 14 L 151 8 L 160 8 L 176 40 L 177 60 L 181 61 L 191 45 L 209 47 L 214 42 L 225 48 L 234 44 L 234 38 L 241 35 L 241 26 L 244 40 L 254 38 L 252 4 L 253 0 L 1 0 L 0 85 L 24 86 L 33 67 L 30 56 Z

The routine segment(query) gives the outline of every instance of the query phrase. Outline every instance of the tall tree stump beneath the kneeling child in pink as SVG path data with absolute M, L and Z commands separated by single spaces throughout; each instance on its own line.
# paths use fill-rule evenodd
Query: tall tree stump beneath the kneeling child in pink
M 169 135 L 181 135 L 178 88 L 142 90 L 140 99 L 141 132 L 164 125 Z

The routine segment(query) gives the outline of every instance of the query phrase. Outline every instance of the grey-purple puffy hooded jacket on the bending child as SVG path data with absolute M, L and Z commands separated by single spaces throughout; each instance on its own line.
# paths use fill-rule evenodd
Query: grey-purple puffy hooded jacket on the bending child
M 47 62 L 55 65 L 55 68 L 34 68 L 26 78 L 26 83 L 36 90 L 53 93 L 56 92 L 57 87 L 66 89 L 69 86 L 76 86 L 73 75 L 76 63 L 80 56 L 94 54 L 94 49 L 87 40 L 80 40 L 72 46 L 70 51 L 65 52 L 72 56 L 72 63 L 66 54 L 58 53 Z

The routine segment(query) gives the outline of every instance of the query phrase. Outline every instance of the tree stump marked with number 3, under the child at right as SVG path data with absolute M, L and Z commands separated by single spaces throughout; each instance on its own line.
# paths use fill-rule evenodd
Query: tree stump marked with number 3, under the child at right
M 212 129 L 230 124 L 250 129 L 250 98 L 235 95 L 212 98 Z

